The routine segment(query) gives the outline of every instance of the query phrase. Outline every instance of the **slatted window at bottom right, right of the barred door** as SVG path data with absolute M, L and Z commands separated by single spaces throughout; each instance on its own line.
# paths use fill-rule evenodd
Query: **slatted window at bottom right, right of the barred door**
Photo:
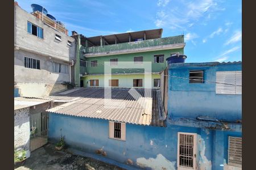
M 242 167 L 242 138 L 229 137 L 228 164 Z

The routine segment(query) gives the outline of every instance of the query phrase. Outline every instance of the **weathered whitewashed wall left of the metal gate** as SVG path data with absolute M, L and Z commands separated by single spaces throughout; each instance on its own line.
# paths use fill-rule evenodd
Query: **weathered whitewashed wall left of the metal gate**
M 30 116 L 29 108 L 14 111 L 14 147 L 30 149 Z

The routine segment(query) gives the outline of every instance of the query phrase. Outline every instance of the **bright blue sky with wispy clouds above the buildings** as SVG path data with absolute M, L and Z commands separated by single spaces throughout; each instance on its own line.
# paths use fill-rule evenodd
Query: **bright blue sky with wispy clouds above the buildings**
M 163 28 L 162 37 L 185 36 L 186 62 L 242 60 L 241 0 L 30 1 L 86 37 Z

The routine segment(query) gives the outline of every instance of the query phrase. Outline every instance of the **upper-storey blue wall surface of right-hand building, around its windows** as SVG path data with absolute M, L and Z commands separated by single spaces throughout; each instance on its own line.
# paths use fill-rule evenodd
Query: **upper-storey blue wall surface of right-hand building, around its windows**
M 241 71 L 240 64 L 212 66 L 170 66 L 169 75 L 189 78 L 189 70 L 204 70 L 204 80 L 216 82 L 216 71 Z M 242 95 L 217 95 L 216 83 L 189 83 L 169 77 L 168 116 L 196 118 L 209 116 L 224 121 L 242 119 Z M 193 108 L 193 109 L 191 109 Z

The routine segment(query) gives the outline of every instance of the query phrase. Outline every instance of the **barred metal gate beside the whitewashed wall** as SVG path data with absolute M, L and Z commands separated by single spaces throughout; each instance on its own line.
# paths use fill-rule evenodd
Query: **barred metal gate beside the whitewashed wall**
M 48 113 L 30 114 L 30 151 L 46 145 L 48 142 Z

